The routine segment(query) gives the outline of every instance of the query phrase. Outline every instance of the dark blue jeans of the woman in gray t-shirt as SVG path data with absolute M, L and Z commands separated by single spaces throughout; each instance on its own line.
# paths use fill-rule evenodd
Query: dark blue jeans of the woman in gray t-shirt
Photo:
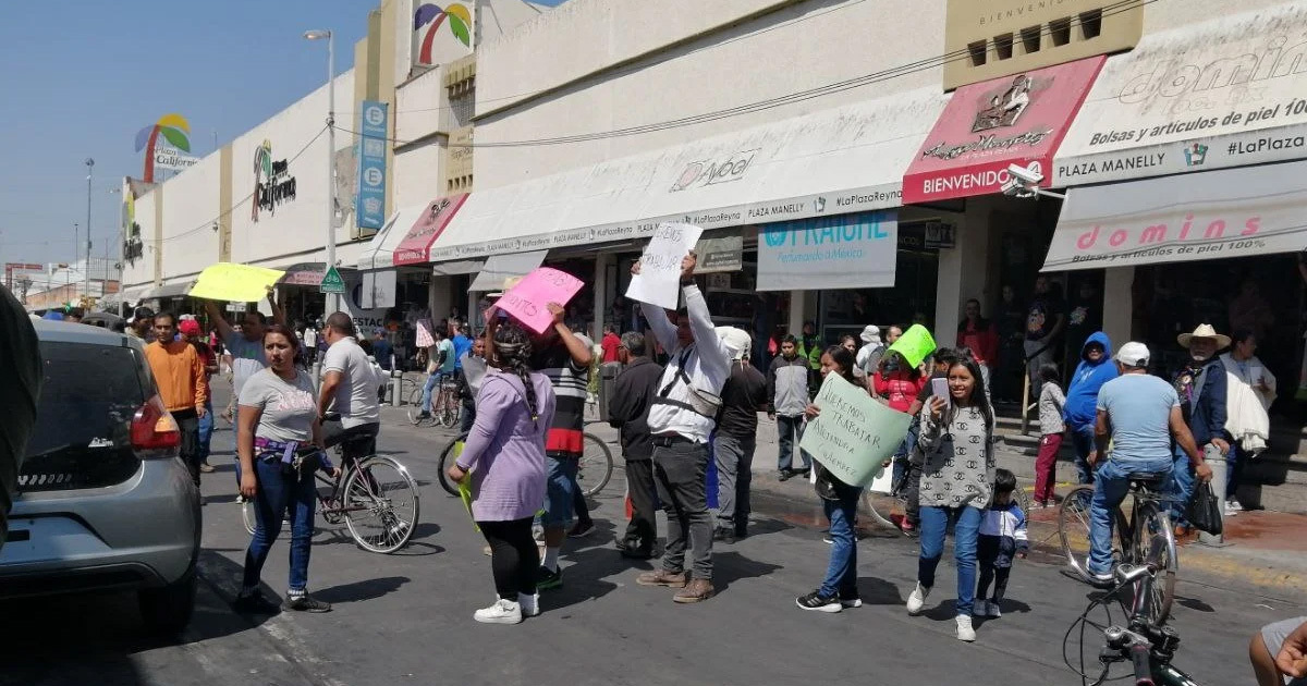
M 281 476 L 281 463 L 255 459 L 259 490 L 254 497 L 254 538 L 246 550 L 244 587 L 259 585 L 263 563 L 268 561 L 272 544 L 281 533 L 281 524 L 290 515 L 290 589 L 303 591 L 308 585 L 308 550 L 314 537 L 314 477 L 305 474 L 298 481 Z

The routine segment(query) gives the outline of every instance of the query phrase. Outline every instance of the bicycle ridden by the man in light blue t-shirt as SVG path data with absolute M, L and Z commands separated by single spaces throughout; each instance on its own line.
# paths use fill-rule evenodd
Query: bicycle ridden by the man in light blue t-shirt
M 1151 564 L 1157 568 L 1155 583 L 1149 584 L 1149 604 L 1151 621 L 1165 625 L 1171 614 L 1175 600 L 1175 579 L 1180 561 L 1175 549 L 1175 533 L 1171 531 L 1168 502 L 1161 493 L 1166 473 L 1137 472 L 1129 476 L 1129 514 L 1125 502 L 1116 510 L 1114 528 L 1120 549 L 1112 550 L 1120 564 Z M 1057 536 L 1061 538 L 1067 564 L 1090 583 L 1089 574 L 1089 532 L 1090 500 L 1094 486 L 1076 486 L 1063 499 L 1057 511 Z

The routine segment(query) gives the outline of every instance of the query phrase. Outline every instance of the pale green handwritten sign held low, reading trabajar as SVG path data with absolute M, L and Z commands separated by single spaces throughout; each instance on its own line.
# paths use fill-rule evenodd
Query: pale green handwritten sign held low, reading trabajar
M 912 419 L 835 374 L 826 376 L 813 402 L 821 414 L 808 423 L 799 447 L 850 486 L 867 486 L 880 476 Z

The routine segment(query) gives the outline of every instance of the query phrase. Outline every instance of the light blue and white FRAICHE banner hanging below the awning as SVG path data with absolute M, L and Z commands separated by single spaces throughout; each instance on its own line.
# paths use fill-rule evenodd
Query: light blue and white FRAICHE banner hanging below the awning
M 758 227 L 758 290 L 890 287 L 898 212 L 839 214 Z

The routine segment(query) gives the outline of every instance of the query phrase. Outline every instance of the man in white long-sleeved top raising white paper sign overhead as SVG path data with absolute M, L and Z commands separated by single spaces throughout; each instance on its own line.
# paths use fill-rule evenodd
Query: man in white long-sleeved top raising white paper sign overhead
M 698 231 L 698 227 L 689 227 Z M 659 239 L 655 238 L 654 243 Z M 651 250 L 654 244 L 651 243 Z M 676 602 L 699 602 L 712 597 L 712 515 L 708 512 L 707 483 L 708 435 L 716 427 L 721 408 L 721 387 L 731 376 L 731 353 L 718 338 L 708 303 L 694 284 L 697 257 L 682 252 L 680 284 L 685 311 L 673 320 L 659 302 L 676 302 L 674 293 L 659 291 L 659 302 L 640 301 L 644 319 L 659 344 L 670 354 L 650 405 L 648 426 L 654 435 L 654 480 L 667 512 L 667 550 L 663 568 L 644 572 L 640 585 L 678 588 Z M 664 255 L 665 256 L 665 255 Z M 642 261 L 631 265 L 639 276 Z M 660 257 L 661 259 L 661 257 Z M 656 260 L 655 260 L 656 261 Z M 651 291 L 627 290 L 631 298 L 647 298 Z M 693 570 L 686 574 L 686 541 Z

